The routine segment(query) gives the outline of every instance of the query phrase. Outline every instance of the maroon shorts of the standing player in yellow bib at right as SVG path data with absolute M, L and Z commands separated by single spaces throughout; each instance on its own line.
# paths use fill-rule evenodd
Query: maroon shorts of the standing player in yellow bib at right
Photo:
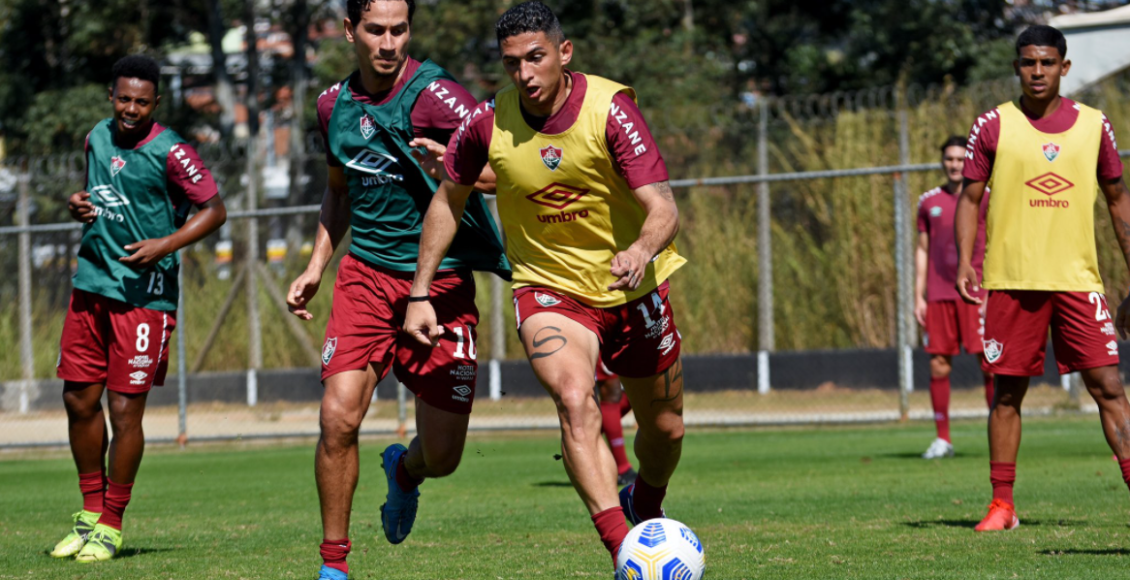
M 986 371 L 1043 374 L 1049 326 L 1061 374 L 1119 364 L 1114 322 L 1102 293 L 992 291 L 986 306 Z

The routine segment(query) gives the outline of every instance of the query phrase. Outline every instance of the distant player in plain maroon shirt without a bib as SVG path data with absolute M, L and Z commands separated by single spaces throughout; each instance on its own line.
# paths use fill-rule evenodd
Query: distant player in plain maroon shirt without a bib
M 954 210 L 962 194 L 962 167 L 965 165 L 965 138 L 950 137 L 941 144 L 941 168 L 946 184 L 919 198 L 919 241 L 914 252 L 914 317 L 925 329 L 922 344 L 930 353 L 930 402 L 938 436 L 922 453 L 923 459 L 954 457 L 949 439 L 949 373 L 954 355 L 981 354 L 984 334 L 984 304 L 966 304 L 957 294 L 957 244 L 954 242 Z M 981 204 L 988 207 L 989 197 Z M 981 275 L 985 254 L 984 219 L 977 222 L 973 268 Z M 979 293 L 977 297 L 984 297 Z M 983 371 L 985 402 L 992 406 L 992 373 Z

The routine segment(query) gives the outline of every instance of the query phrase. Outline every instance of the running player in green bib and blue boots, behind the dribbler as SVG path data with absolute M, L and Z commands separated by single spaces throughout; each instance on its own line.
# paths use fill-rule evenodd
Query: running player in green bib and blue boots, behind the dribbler
M 476 101 L 447 71 L 408 55 L 414 0 L 349 0 L 346 9 L 346 38 L 356 51 L 358 70 L 318 98 L 329 185 L 310 265 L 287 294 L 292 312 L 310 320 L 306 305 L 351 228 L 322 348 L 324 392 L 314 476 L 324 534 L 320 574 L 325 580 L 344 580 L 349 573 L 357 435 L 376 383 L 395 369 L 397 378 L 416 393 L 418 435 L 407 449 L 398 443 L 382 453 L 389 491 L 381 525 L 384 537 L 399 544 L 416 521 L 420 483 L 451 475 L 463 455 L 478 370 L 479 313 L 471 270 L 510 275 L 494 222 L 481 196 L 475 194 L 433 286 L 440 321 L 449 329 L 441 347 L 427 348 L 398 334 L 424 210 L 436 188 L 414 157 L 419 155 L 415 139 L 449 138 Z

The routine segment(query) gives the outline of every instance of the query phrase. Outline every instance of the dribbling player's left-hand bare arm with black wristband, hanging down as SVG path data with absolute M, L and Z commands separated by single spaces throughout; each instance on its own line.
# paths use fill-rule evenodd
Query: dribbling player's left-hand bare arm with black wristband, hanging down
M 412 279 L 412 289 L 409 294 L 408 312 L 405 313 L 405 332 L 426 345 L 435 346 L 443 335 L 443 329 L 436 322 L 432 303 L 414 298 L 428 295 L 432 279 L 435 278 L 435 271 L 440 269 L 440 262 L 446 256 L 451 241 L 455 239 L 459 222 L 463 218 L 463 207 L 473 189 L 471 185 L 443 180 L 424 216 L 420 254 L 416 262 L 416 277 Z

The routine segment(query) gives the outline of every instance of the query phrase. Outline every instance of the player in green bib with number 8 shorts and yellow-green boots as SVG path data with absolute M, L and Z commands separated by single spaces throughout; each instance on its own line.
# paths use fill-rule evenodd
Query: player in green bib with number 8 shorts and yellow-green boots
M 146 398 L 165 383 L 168 370 L 176 251 L 227 219 L 197 152 L 153 120 L 160 104 L 157 62 L 125 57 L 111 72 L 114 116 L 87 135 L 86 191 L 67 204 L 86 225 L 55 371 L 63 380 L 82 510 L 51 555 L 79 562 L 110 560 L 122 549 L 122 513 L 145 450 Z M 186 219 L 192 206 L 199 211 Z

